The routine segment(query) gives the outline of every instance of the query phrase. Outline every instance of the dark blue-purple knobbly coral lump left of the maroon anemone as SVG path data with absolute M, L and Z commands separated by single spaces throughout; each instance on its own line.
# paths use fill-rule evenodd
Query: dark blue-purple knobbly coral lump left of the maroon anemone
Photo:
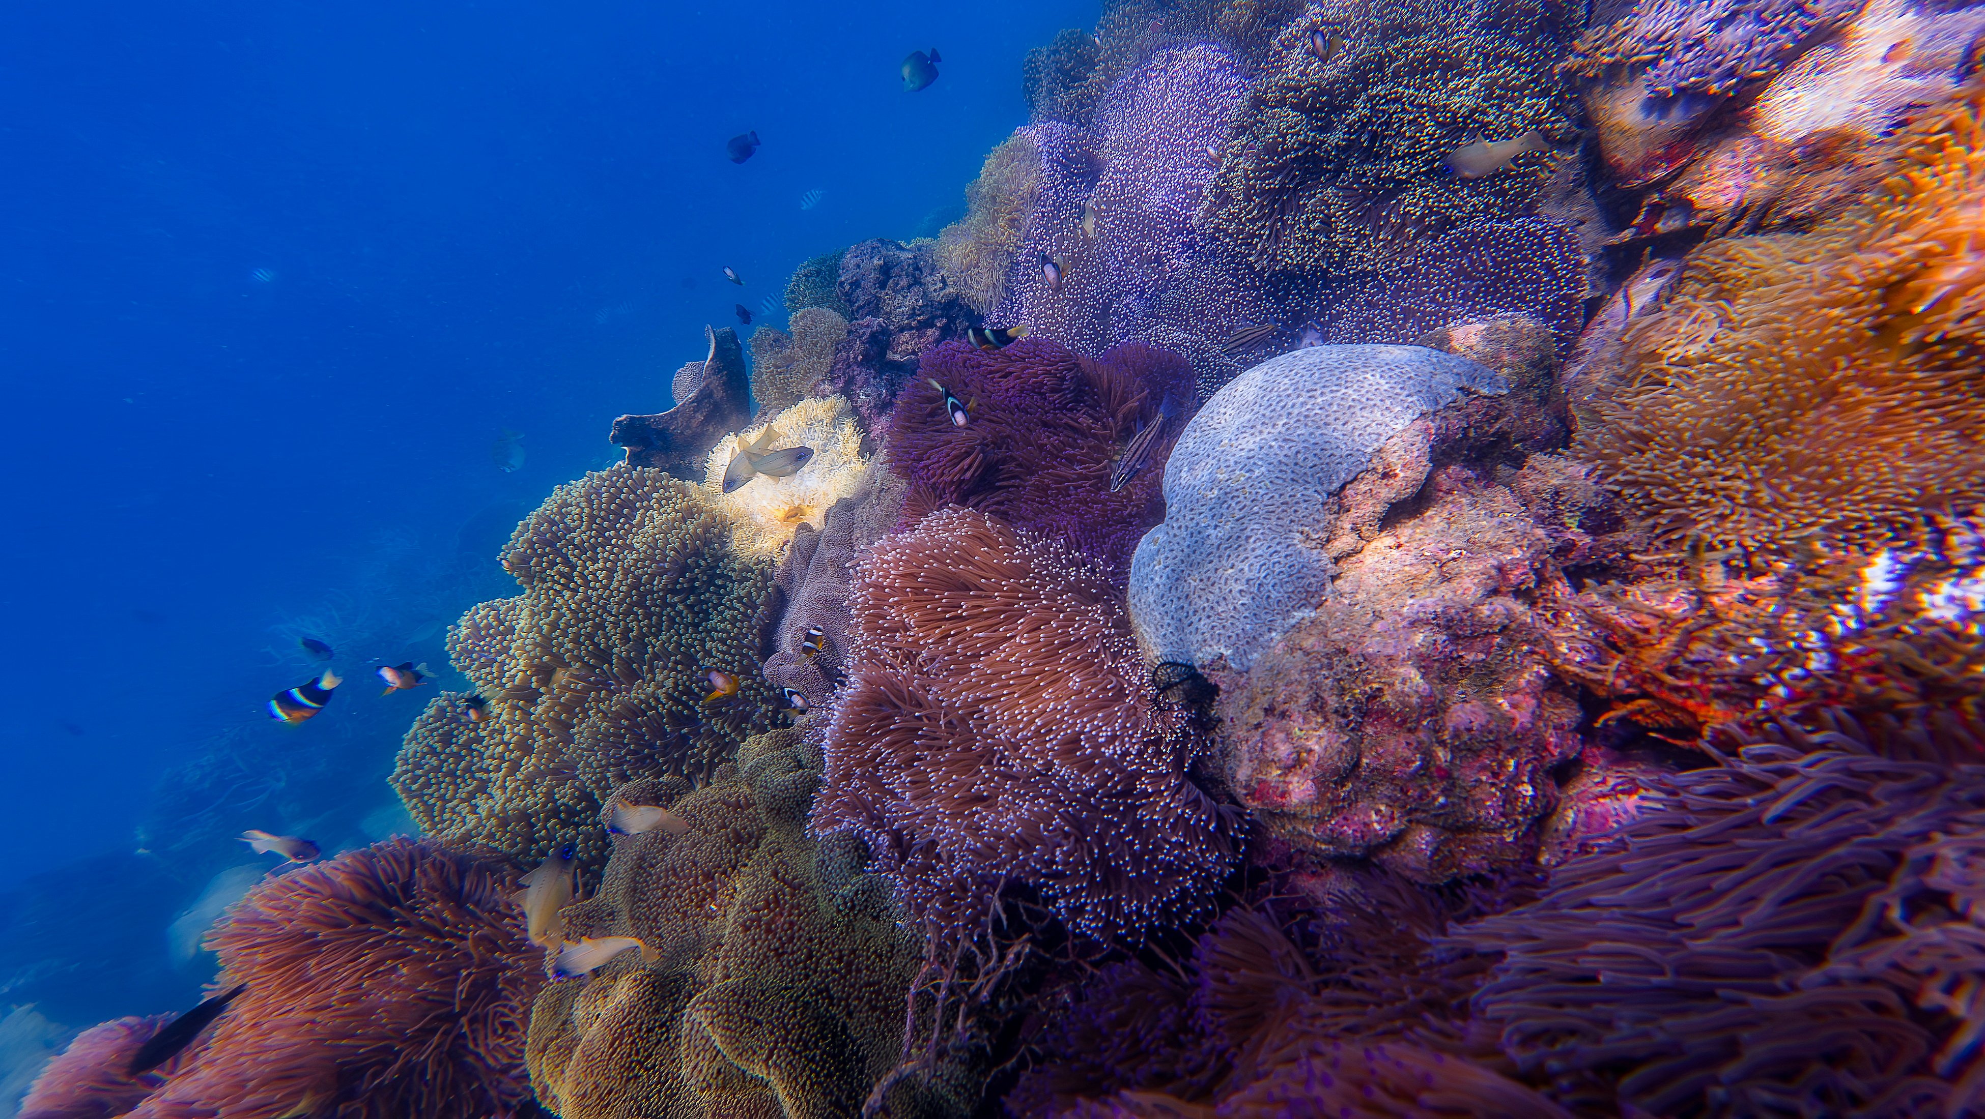
M 865 240 L 842 258 L 836 290 L 848 306 L 848 339 L 836 347 L 824 387 L 848 397 L 875 438 L 889 431 L 889 409 L 917 377 L 917 357 L 979 323 L 965 290 L 937 268 L 935 248 L 935 240 Z

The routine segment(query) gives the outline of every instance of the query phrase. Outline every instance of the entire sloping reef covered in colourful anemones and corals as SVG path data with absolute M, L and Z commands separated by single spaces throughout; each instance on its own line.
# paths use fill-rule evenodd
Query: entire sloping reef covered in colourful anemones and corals
M 1108 4 L 516 528 L 425 837 L 24 1115 L 1985 1113 L 1981 36 Z

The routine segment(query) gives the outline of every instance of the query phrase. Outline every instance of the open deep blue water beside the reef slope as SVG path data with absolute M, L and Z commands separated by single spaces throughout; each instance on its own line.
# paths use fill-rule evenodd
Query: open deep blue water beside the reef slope
M 703 323 L 935 232 L 1094 0 L 30 0 L 0 14 L 0 1012 L 197 998 L 244 827 L 401 823 L 443 627 Z M 943 77 L 901 89 L 909 50 Z M 756 129 L 744 165 L 725 141 Z M 806 190 L 820 206 L 800 210 Z M 746 286 L 727 284 L 723 266 Z M 774 317 L 772 321 L 780 321 Z M 760 317 L 764 321 L 764 317 Z M 490 460 L 524 433 L 514 474 Z M 351 683 L 278 726 L 314 675 Z M 431 692 L 429 692 L 431 694 Z M 12 1101 L 0 1101 L 6 1113 Z

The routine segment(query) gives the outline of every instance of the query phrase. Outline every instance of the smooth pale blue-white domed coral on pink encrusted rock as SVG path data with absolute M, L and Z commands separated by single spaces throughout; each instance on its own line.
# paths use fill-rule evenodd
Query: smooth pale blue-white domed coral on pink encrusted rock
M 1463 389 L 1507 381 L 1415 345 L 1318 345 L 1231 381 L 1185 427 L 1165 464 L 1165 522 L 1131 558 L 1129 611 L 1159 661 L 1245 671 L 1330 589 L 1308 532 L 1372 452 Z

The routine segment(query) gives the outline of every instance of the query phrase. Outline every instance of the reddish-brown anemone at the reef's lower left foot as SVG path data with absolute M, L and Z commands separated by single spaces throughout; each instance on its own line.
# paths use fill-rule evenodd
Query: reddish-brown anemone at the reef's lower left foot
M 544 982 L 504 873 L 391 839 L 266 879 L 210 944 L 246 982 L 133 1119 L 486 1119 L 530 1107 L 524 1010 Z

